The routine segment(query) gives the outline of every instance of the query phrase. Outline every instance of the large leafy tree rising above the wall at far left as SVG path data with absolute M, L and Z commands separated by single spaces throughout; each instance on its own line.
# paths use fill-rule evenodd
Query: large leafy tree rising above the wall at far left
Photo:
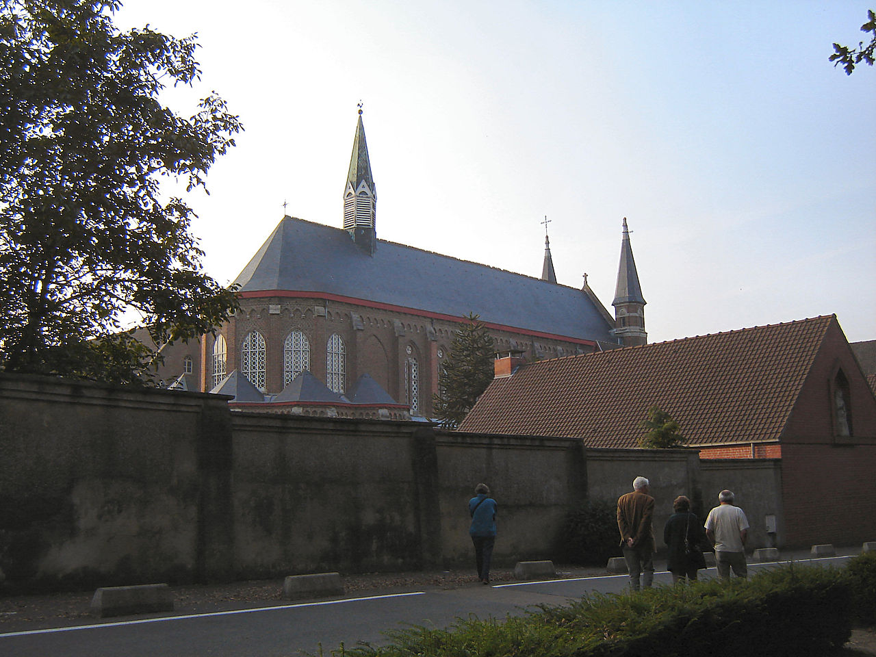
M 0 367 L 114 382 L 154 343 L 209 332 L 236 294 L 201 269 L 194 212 L 162 178 L 203 187 L 242 130 L 222 98 L 159 102 L 200 78 L 195 37 L 119 32 L 117 0 L 0 0 Z

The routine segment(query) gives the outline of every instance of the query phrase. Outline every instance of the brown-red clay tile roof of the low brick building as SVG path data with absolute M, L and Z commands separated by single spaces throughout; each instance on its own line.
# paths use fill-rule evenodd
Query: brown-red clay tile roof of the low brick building
M 527 364 L 493 380 L 459 430 L 634 448 L 656 405 L 689 445 L 778 440 L 836 321 L 827 315 Z

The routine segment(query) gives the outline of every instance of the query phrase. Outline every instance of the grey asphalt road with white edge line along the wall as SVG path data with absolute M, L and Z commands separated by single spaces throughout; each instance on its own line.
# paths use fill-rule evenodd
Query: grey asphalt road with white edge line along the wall
M 850 557 L 799 563 L 841 565 Z M 749 570 L 776 564 L 749 564 Z M 715 569 L 700 571 L 715 576 Z M 505 618 L 537 604 L 559 605 L 591 591 L 618 592 L 625 575 L 423 590 L 385 596 L 351 597 L 302 604 L 222 611 L 201 615 L 126 618 L 28 632 L 0 634 L 0 656 L 35 657 L 293 657 L 326 655 L 343 644 L 386 643 L 382 634 L 406 625 L 446 627 L 457 618 Z M 671 583 L 658 573 L 655 583 Z

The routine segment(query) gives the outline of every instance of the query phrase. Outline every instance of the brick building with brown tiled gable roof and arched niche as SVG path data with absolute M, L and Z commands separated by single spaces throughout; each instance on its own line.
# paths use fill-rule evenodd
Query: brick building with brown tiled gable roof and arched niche
M 703 463 L 778 464 L 792 544 L 818 542 L 816 527 L 876 533 L 876 398 L 835 315 L 497 372 L 460 431 L 635 449 L 658 406 Z

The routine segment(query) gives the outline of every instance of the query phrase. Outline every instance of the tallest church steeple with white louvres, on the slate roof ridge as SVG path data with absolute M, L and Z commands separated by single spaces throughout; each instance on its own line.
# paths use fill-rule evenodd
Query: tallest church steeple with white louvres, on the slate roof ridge
M 368 145 L 365 142 L 365 128 L 362 124 L 362 102 L 359 102 L 359 121 L 356 137 L 353 138 L 347 185 L 343 191 L 343 228 L 368 255 L 372 255 L 378 246 L 375 221 L 377 201 L 377 190 L 371 176 L 371 161 L 368 159 Z

